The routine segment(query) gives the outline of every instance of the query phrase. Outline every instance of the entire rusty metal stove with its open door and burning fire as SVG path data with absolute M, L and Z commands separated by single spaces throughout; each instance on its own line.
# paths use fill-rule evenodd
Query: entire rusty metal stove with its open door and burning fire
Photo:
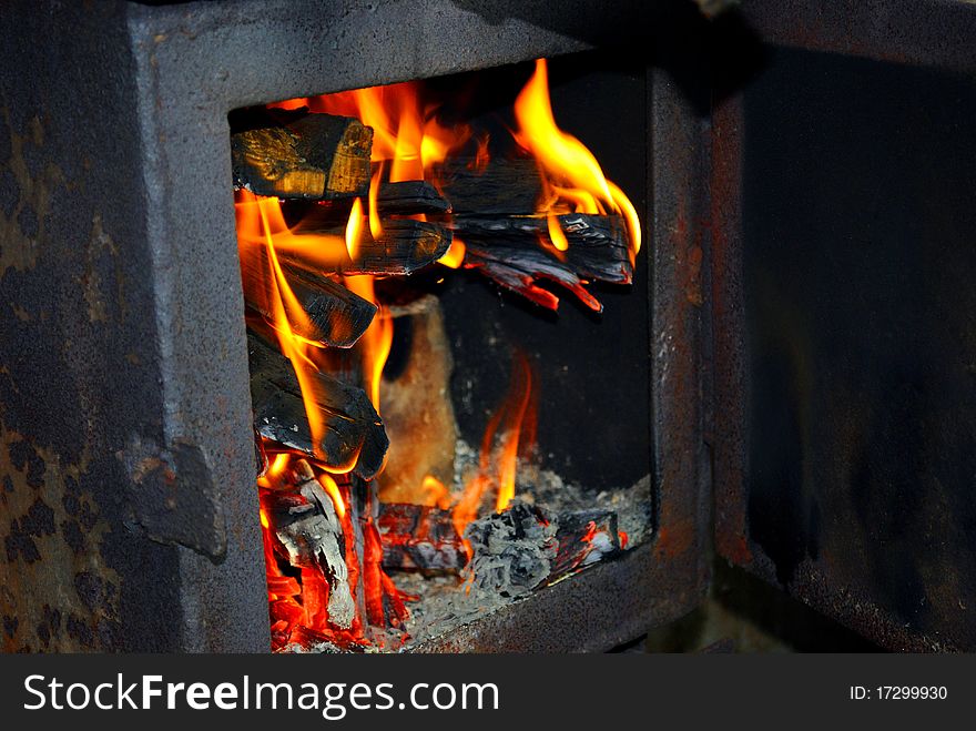
M 862 434 L 965 392 L 968 341 L 927 341 L 947 380 L 918 356 L 898 398 L 814 408 L 816 364 L 854 393 L 892 353 L 852 337 L 832 370 L 819 287 L 865 329 L 901 311 L 873 319 L 884 297 L 842 296 L 824 264 L 870 226 L 791 203 L 833 193 L 804 209 L 828 220 L 853 180 L 877 217 L 882 177 L 950 211 L 972 190 L 945 150 L 881 177 L 865 151 L 901 113 L 972 152 L 974 6 L 864 4 L 9 4 L 4 650 L 606 650 L 700 603 L 713 527 L 721 556 L 886 644 L 972 647 L 969 420 L 913 453 L 959 466 L 921 470 L 915 520 L 882 467 L 911 429 Z M 948 111 L 905 114 L 906 78 Z M 864 79 L 884 114 L 851 105 Z M 823 164 L 801 185 L 791 160 Z M 913 194 L 923 160 L 935 187 Z M 968 271 L 939 210 L 923 229 Z M 887 261 L 871 251 L 851 267 Z M 918 322 L 963 332 L 937 302 Z M 923 430 L 949 400 L 912 412 Z

